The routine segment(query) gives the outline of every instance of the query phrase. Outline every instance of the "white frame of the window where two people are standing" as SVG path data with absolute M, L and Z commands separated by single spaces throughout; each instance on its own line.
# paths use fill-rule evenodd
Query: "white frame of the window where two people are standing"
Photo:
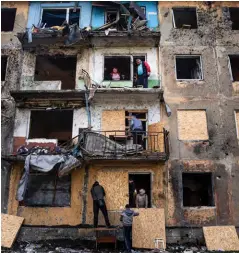
M 139 53 L 139 54 L 112 54 L 112 55 L 110 55 L 110 54 L 104 54 L 103 55 L 103 66 L 102 66 L 102 80 L 103 80 L 103 82 L 108 82 L 108 81 L 110 81 L 110 82 L 133 82 L 133 80 L 134 80 L 134 57 L 135 56 L 144 56 L 145 57 L 145 61 L 147 61 L 147 54 L 141 54 L 141 53 Z M 105 57 L 130 57 L 130 80 L 119 80 L 119 81 L 114 81 L 114 80 L 105 80 L 104 79 L 104 77 L 105 77 Z

